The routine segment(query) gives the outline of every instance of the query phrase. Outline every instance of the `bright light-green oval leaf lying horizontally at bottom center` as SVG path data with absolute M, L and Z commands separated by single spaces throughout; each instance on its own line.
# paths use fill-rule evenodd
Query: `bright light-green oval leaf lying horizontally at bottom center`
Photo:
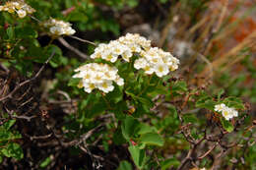
M 140 141 L 144 142 L 146 144 L 151 144 L 151 145 L 163 145 L 163 139 L 160 137 L 159 134 L 157 133 L 148 133 L 148 134 L 143 134 L 140 137 Z

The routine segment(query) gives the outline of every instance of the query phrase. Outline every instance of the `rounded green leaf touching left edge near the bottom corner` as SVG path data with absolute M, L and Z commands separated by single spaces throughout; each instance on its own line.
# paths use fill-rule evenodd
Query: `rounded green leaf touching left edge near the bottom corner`
M 1 149 L 1 152 L 6 157 L 14 157 L 17 160 L 20 160 L 24 157 L 22 147 L 16 142 L 10 142 L 6 147 Z

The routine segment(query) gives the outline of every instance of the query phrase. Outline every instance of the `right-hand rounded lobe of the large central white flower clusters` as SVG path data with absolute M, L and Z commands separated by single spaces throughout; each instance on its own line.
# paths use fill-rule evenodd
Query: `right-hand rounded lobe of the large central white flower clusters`
M 161 78 L 167 75 L 169 70 L 174 71 L 178 68 L 179 60 L 158 47 L 141 51 L 140 54 L 142 58 L 135 60 L 134 68 L 137 70 L 143 69 L 148 75 L 156 73 Z

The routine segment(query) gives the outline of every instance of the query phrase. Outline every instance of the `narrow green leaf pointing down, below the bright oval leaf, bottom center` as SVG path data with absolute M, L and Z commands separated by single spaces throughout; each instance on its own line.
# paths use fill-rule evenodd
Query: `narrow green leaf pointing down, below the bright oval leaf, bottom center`
M 131 156 L 133 158 L 133 161 L 135 165 L 139 168 L 142 169 L 143 166 L 145 165 L 145 160 L 146 160 L 146 154 L 144 149 L 140 149 L 139 147 L 135 145 L 130 145 L 128 147 Z

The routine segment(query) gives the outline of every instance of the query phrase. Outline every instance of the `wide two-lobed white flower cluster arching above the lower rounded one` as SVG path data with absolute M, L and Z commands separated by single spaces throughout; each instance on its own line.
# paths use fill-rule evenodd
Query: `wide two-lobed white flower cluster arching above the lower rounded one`
M 158 77 L 165 76 L 170 71 L 178 68 L 179 60 L 169 52 L 164 52 L 158 47 L 151 47 L 151 41 L 139 34 L 127 33 L 108 44 L 101 43 L 96 47 L 91 58 L 101 58 L 114 63 L 118 56 L 129 62 L 134 53 L 141 58 L 134 63 L 134 68 L 145 70 L 146 74 L 156 73 Z

